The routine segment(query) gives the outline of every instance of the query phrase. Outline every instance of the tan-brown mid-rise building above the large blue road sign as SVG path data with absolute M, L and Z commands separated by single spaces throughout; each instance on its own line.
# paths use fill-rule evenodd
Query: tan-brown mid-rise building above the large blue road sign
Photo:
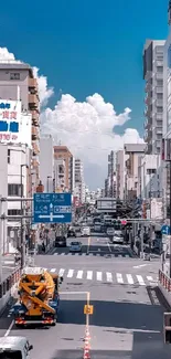
M 73 193 L 75 188 L 75 160 L 66 146 L 54 146 L 55 188 Z

